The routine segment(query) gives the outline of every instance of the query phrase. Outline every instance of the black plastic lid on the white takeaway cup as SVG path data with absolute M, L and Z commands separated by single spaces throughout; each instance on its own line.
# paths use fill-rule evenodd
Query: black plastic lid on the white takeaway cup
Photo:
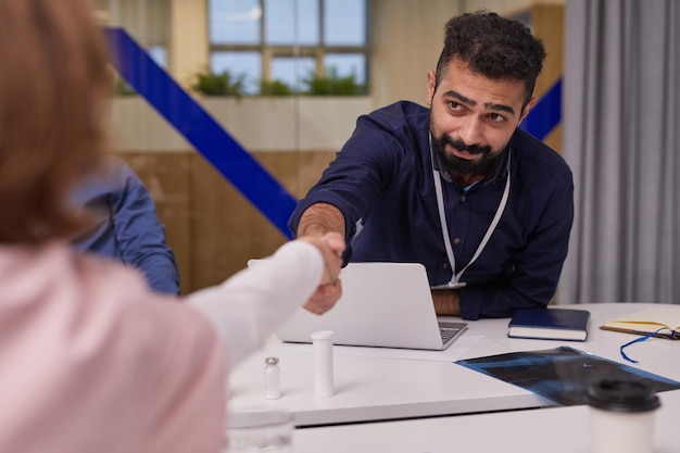
M 603 379 L 590 386 L 588 404 L 614 412 L 646 412 L 662 405 L 652 387 L 621 379 Z

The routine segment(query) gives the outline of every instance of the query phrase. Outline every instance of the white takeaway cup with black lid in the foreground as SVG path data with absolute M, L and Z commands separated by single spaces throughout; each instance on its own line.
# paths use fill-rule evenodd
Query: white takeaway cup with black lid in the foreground
M 590 387 L 592 453 L 652 453 L 654 418 L 660 403 L 637 380 L 604 379 Z

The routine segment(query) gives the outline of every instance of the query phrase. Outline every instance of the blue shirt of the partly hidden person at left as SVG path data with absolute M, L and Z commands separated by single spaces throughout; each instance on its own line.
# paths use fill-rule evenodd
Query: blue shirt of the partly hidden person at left
M 71 202 L 95 217 L 91 229 L 73 240 L 77 251 L 121 260 L 139 269 L 151 289 L 179 293 L 179 273 L 165 242 L 165 227 L 151 194 L 123 160 L 108 156 L 104 174 L 78 185 Z

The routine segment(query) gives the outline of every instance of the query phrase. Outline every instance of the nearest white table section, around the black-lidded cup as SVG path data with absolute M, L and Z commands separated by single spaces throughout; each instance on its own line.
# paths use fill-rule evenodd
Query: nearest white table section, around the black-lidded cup
M 660 392 L 654 453 L 680 451 L 680 390 Z M 295 453 L 590 453 L 588 406 L 302 428 Z

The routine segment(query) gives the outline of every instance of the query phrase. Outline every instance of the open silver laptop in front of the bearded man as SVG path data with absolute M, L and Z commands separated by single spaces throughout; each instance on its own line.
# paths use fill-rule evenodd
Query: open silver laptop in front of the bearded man
M 319 316 L 300 309 L 277 337 L 310 343 L 313 332 L 332 330 L 335 344 L 444 350 L 467 327 L 438 320 L 419 263 L 350 263 L 340 279 L 342 297 L 332 310 Z

